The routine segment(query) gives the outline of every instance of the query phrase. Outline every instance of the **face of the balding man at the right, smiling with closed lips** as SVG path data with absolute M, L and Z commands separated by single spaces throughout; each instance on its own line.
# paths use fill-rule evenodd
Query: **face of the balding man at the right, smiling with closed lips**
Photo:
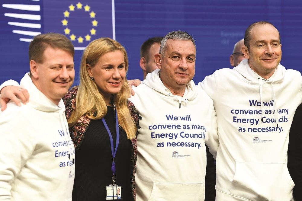
M 249 66 L 262 78 L 270 78 L 281 61 L 281 44 L 278 30 L 270 24 L 258 25 L 251 29 L 249 49 L 243 46 Z

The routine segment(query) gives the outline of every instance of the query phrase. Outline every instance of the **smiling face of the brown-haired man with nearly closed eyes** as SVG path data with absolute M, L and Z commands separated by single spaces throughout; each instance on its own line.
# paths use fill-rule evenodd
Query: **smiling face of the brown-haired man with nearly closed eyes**
M 30 61 L 34 85 L 53 103 L 59 104 L 71 87 L 75 71 L 72 54 L 62 49 L 47 47 L 43 63 Z

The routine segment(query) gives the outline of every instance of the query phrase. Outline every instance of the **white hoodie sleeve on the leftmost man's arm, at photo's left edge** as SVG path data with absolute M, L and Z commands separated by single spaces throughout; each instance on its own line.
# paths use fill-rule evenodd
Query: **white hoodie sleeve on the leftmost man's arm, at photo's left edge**
M 23 107 L 23 106 L 21 106 Z M 12 184 L 34 151 L 34 140 L 25 115 L 0 112 L 0 200 L 11 200 Z

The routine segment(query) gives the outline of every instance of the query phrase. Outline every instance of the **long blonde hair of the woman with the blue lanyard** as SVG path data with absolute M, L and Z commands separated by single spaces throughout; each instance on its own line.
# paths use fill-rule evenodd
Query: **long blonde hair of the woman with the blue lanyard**
M 94 68 L 101 56 L 116 50 L 119 50 L 124 54 L 125 70 L 127 72 L 127 53 L 125 48 L 117 41 L 111 38 L 99 38 L 93 40 L 85 48 L 80 65 L 80 84 L 76 95 L 76 107 L 67 120 L 69 127 L 74 126 L 83 115 L 86 115 L 91 120 L 101 119 L 106 115 L 107 106 L 104 101 L 104 97 L 98 91 L 95 81 L 90 79 L 86 64 L 89 64 L 91 68 Z M 111 100 L 113 100 L 115 104 L 120 126 L 127 133 L 128 139 L 133 139 L 135 137 L 137 127 L 127 107 L 127 98 L 129 96 L 130 89 L 127 79 L 125 78 L 125 82 L 121 90 L 117 94 L 112 94 Z

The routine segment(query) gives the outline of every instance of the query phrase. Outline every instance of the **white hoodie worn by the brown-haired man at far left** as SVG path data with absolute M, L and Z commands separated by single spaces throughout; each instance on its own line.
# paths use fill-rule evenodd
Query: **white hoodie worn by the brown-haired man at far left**
M 71 200 L 75 155 L 64 103 L 51 102 L 28 74 L 20 86 L 29 103 L 0 112 L 0 200 Z

